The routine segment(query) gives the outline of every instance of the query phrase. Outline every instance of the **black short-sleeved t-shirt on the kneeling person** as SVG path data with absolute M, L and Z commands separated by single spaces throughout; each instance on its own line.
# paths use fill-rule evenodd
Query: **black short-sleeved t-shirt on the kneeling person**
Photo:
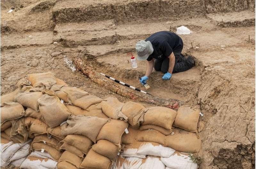
M 154 49 L 153 53 L 148 56 L 147 61 L 151 61 L 152 58 L 164 60 L 166 57 L 170 56 L 175 49 L 183 47 L 182 39 L 175 33 L 169 31 L 156 32 L 145 41 L 150 41 Z

